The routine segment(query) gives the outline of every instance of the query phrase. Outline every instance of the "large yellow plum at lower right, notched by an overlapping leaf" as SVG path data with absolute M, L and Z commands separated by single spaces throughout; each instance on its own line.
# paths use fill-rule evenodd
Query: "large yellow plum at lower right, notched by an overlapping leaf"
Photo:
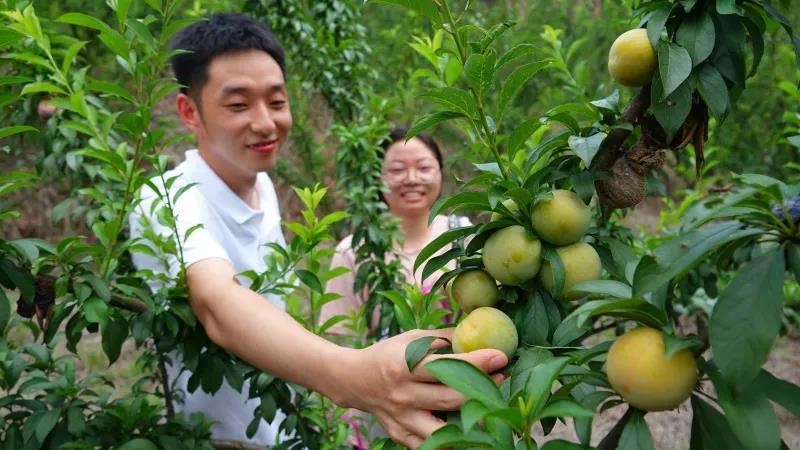
M 697 383 L 697 364 L 687 349 L 667 358 L 661 331 L 642 327 L 614 341 L 606 357 L 606 374 L 631 405 L 665 411 L 689 398 Z

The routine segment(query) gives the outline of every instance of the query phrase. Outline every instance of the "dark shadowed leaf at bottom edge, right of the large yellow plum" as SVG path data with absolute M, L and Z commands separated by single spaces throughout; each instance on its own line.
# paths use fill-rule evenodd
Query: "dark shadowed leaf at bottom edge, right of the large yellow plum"
M 690 450 L 741 450 L 725 417 L 699 396 L 692 396 Z

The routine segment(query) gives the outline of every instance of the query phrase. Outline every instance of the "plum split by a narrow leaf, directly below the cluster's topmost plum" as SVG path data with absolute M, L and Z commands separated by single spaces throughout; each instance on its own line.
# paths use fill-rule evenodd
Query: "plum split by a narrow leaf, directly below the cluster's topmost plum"
M 585 242 L 576 242 L 565 247 L 558 247 L 556 252 L 561 257 L 561 263 L 564 265 L 564 288 L 558 297 L 565 300 L 575 300 L 585 296 L 585 293 L 573 291 L 572 286 L 583 281 L 600 279 L 600 269 L 602 269 L 603 265 L 600 262 L 600 255 L 597 254 L 597 250 Z M 542 264 L 542 271 L 539 277 L 545 289 L 556 295 L 555 276 L 549 261 L 545 260 Z

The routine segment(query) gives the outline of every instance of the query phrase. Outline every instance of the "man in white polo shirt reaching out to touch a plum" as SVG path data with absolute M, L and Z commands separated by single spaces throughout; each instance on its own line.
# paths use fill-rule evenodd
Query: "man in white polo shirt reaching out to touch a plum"
M 264 244 L 284 243 L 275 191 L 264 172 L 274 166 L 292 126 L 283 51 L 274 35 L 245 16 L 221 14 L 182 30 L 173 47 L 188 51 L 175 55 L 172 66 L 184 86 L 176 100 L 178 115 L 194 134 L 197 150 L 187 152 L 166 178 L 179 176 L 169 188 L 173 194 L 191 185 L 174 209 L 195 315 L 221 347 L 340 406 L 373 413 L 395 441 L 416 448 L 443 425 L 431 411 L 458 409 L 464 399 L 422 369 L 409 373 L 405 347 L 423 335 L 449 337 L 451 330 L 409 332 L 363 350 L 340 347 L 300 326 L 280 299 L 267 301 L 236 277 L 264 270 Z M 148 233 L 143 223 L 156 234 L 173 234 L 149 217 L 155 197 L 149 190 L 142 193 L 131 217 L 133 236 Z M 174 256 L 144 254 L 134 255 L 134 263 L 173 276 L 179 264 Z M 494 350 L 453 357 L 486 372 L 507 363 Z M 178 388 L 185 391 L 182 376 Z M 202 411 L 215 421 L 215 439 L 275 442 L 276 424 L 262 424 L 252 440 L 245 437 L 257 403 L 229 385 L 214 396 L 201 390 L 184 395 L 184 411 Z

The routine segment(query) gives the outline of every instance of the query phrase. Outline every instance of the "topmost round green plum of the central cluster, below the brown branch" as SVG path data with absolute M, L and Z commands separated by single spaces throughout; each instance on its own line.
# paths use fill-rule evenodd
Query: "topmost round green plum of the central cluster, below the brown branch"
M 553 245 L 568 245 L 589 229 L 592 212 L 578 194 L 557 189 L 553 198 L 541 200 L 531 211 L 531 224 L 539 238 Z

